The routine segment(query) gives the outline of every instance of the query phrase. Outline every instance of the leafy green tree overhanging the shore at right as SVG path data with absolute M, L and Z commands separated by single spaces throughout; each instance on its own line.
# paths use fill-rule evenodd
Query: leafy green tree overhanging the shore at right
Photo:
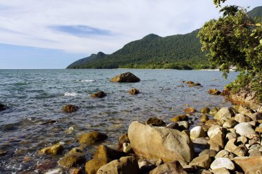
M 216 6 L 224 1 L 214 0 Z M 223 16 L 205 23 L 198 37 L 202 50 L 213 64 L 220 66 L 227 77 L 230 66 L 241 71 L 228 88 L 254 91 L 262 101 L 262 25 L 259 19 L 248 16 L 247 10 L 226 6 L 220 10 Z

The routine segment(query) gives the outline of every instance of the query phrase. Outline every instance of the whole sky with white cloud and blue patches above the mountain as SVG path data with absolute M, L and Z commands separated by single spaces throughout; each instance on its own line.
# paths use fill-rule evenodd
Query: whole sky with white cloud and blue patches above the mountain
M 225 5 L 262 6 L 261 0 Z M 54 69 L 154 33 L 186 34 L 220 16 L 212 0 L 0 0 L 0 69 Z

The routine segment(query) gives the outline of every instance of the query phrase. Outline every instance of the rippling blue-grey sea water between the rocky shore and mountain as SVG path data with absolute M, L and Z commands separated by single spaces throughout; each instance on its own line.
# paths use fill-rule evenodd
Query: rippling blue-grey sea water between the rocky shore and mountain
M 139 83 L 110 83 L 122 72 L 132 72 Z M 43 160 L 59 160 L 38 151 L 57 142 L 66 151 L 79 146 L 77 137 L 88 131 L 108 135 L 104 144 L 116 146 L 119 135 L 134 121 L 159 117 L 166 123 L 183 109 L 231 106 L 223 97 L 209 95 L 210 88 L 223 90 L 227 80 L 221 72 L 210 70 L 0 70 L 0 173 L 34 171 Z M 201 87 L 188 87 L 182 81 L 194 81 Z M 139 95 L 129 95 L 138 88 Z M 93 99 L 90 93 L 103 90 L 107 96 Z M 79 106 L 75 113 L 64 113 L 66 104 Z M 198 122 L 199 113 L 191 116 Z M 51 122 L 50 122 L 51 121 Z M 70 133 L 69 129 L 73 129 Z M 85 149 L 87 160 L 97 146 Z

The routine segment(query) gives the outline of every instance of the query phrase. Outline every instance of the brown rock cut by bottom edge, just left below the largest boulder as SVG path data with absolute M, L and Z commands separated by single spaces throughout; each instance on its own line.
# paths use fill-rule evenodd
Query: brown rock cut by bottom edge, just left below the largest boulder
M 104 166 L 101 166 L 97 171 L 97 174 L 133 174 L 139 173 L 139 171 L 139 165 L 135 157 L 121 157 L 119 160 L 113 160 L 112 162 L 105 164 Z

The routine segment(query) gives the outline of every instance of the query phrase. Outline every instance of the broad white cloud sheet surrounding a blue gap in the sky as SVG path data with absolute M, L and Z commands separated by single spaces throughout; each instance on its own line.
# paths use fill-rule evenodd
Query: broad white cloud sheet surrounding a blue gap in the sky
M 261 0 L 229 0 L 259 6 Z M 212 0 L 0 0 L 0 43 L 111 53 L 154 33 L 184 34 L 219 16 Z M 78 37 L 50 26 L 90 26 L 116 35 Z

